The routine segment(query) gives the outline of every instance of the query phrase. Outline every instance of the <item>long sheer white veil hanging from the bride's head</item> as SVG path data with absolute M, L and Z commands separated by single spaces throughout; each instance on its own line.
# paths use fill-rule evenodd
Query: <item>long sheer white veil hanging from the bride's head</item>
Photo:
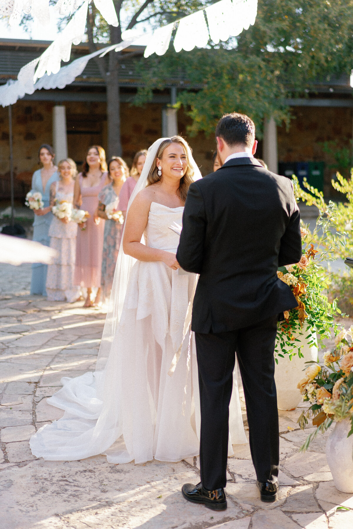
M 126 216 L 128 215 L 130 206 L 135 196 L 139 193 L 139 191 L 141 191 L 142 189 L 146 187 L 147 177 L 152 167 L 153 161 L 155 161 L 156 159 L 160 144 L 164 142 L 165 140 L 170 140 L 170 139 L 173 139 L 173 137 L 172 138 L 159 138 L 159 140 L 156 140 L 155 143 L 153 143 L 151 147 L 148 149 L 147 158 L 146 158 L 146 161 L 144 162 L 141 176 L 138 180 L 138 183 L 135 185 L 135 188 L 132 191 L 132 195 L 129 200 L 128 209 L 126 211 Z M 201 175 L 200 169 L 198 169 L 196 165 L 196 162 L 192 156 L 192 151 L 189 148 L 188 144 L 187 144 L 187 157 L 189 160 L 189 165 L 191 165 L 194 171 L 193 180 L 194 181 L 199 180 L 200 178 L 202 178 L 202 175 Z M 110 301 L 108 304 L 107 315 L 106 315 L 106 320 L 105 320 L 104 330 L 103 330 L 103 335 L 102 335 L 102 341 L 101 341 L 101 345 L 99 347 L 99 352 L 98 352 L 96 373 L 104 370 L 107 358 L 110 354 L 110 349 L 111 349 L 112 341 L 115 335 L 116 327 L 119 324 L 119 320 L 120 320 L 122 309 L 123 309 L 126 288 L 128 287 L 128 282 L 129 282 L 130 271 L 135 262 L 135 259 L 133 259 L 131 256 L 126 255 L 123 252 L 122 241 L 124 238 L 124 233 L 125 233 L 125 226 L 124 226 L 123 234 L 121 238 L 119 254 L 117 256 L 112 292 L 111 292 Z

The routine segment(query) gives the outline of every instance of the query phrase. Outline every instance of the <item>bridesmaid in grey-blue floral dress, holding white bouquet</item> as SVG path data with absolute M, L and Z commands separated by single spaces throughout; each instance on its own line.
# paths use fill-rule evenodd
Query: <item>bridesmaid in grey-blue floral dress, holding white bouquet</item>
M 119 193 L 126 177 L 129 176 L 129 168 L 122 158 L 119 156 L 113 156 L 108 162 L 108 173 L 112 181 L 105 186 L 98 195 L 98 216 L 105 219 L 101 278 L 104 302 L 109 299 L 112 290 L 116 259 L 123 232 L 123 226 L 119 221 L 108 219 L 105 213 L 105 206 L 116 200 L 116 209 L 121 209 L 119 204 Z

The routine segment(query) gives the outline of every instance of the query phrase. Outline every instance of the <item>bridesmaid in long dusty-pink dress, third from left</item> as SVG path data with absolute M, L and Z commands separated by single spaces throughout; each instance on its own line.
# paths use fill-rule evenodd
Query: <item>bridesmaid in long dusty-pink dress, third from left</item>
M 75 181 L 74 206 L 85 209 L 90 218 L 79 224 L 76 238 L 75 285 L 87 288 L 84 307 L 97 305 L 101 298 L 101 270 L 104 239 L 104 221 L 97 215 L 98 194 L 109 183 L 105 152 L 99 145 L 87 151 L 83 171 Z M 97 294 L 92 302 L 92 288 Z

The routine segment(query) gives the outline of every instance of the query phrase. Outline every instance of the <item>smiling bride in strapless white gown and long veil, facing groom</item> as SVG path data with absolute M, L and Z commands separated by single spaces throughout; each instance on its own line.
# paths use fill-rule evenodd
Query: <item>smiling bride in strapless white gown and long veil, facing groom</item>
M 32 436 L 35 456 L 60 461 L 103 453 L 111 463 L 142 463 L 199 453 L 196 348 L 187 317 L 196 275 L 179 270 L 179 235 L 169 229 L 182 223 L 188 187 L 198 178 L 180 136 L 149 148 L 129 200 L 96 372 L 62 379 L 47 402 L 64 416 Z M 247 442 L 237 368 L 229 422 L 232 455 L 232 443 Z

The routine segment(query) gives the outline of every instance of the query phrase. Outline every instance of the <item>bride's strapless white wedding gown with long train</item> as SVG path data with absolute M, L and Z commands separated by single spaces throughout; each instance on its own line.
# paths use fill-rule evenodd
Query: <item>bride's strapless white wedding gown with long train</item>
M 152 248 L 176 252 L 183 207 L 152 202 L 144 233 Z M 183 340 L 183 327 L 196 276 L 179 275 L 163 262 L 136 261 L 104 371 L 62 379 L 64 387 L 47 402 L 64 416 L 31 438 L 32 453 L 46 460 L 76 460 L 104 453 L 112 463 L 156 458 L 180 461 L 199 453 L 200 402 L 196 348 Z M 230 405 L 232 443 L 246 443 L 237 367 Z

